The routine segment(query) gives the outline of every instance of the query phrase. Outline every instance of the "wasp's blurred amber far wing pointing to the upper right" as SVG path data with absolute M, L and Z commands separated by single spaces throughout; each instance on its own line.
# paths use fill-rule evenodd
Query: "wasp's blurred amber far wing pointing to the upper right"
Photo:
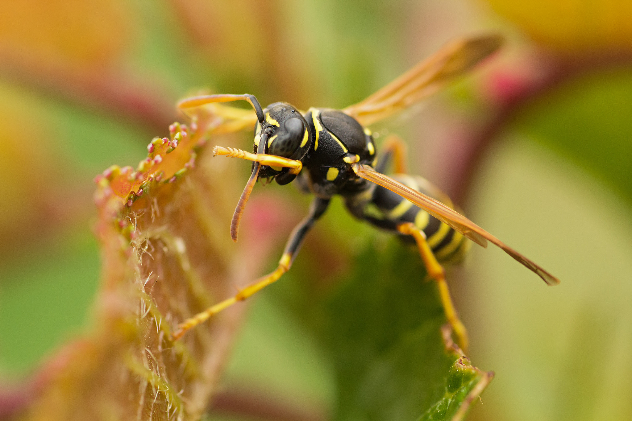
M 363 126 L 392 116 L 437 92 L 461 76 L 502 44 L 500 35 L 456 39 L 417 64 L 384 88 L 343 111 Z

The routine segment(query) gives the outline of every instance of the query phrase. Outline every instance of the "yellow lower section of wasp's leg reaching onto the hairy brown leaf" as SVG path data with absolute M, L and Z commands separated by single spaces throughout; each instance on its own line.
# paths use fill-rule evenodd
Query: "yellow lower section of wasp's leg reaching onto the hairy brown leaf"
M 279 266 L 277 266 L 276 270 L 274 270 L 272 273 L 258 278 L 258 280 L 256 280 L 255 282 L 240 290 L 240 292 L 234 295 L 234 297 L 226 299 L 222 302 L 218 302 L 205 311 L 200 312 L 195 316 L 186 319 L 185 321 L 183 321 L 183 323 L 178 324 L 178 329 L 176 329 L 176 331 L 173 333 L 173 340 L 178 340 L 190 329 L 193 329 L 198 324 L 207 321 L 209 317 L 214 316 L 224 309 L 227 309 L 238 301 L 243 301 L 247 299 L 251 295 L 255 294 L 255 292 L 258 292 L 259 290 L 262 290 L 263 288 L 270 285 L 270 283 L 274 283 L 279 280 L 279 278 L 281 278 L 281 275 L 289 270 L 289 267 L 292 264 L 291 260 L 291 256 L 287 253 L 284 253 L 281 257 L 281 260 L 279 260 Z

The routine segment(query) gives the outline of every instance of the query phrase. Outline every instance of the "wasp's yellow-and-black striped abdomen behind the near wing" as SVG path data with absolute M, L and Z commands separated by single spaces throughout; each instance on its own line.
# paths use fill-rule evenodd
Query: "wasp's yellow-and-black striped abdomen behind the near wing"
M 454 209 L 446 194 L 426 179 L 404 174 L 393 175 L 392 178 Z M 384 187 L 375 187 L 371 201 L 364 206 L 363 218 L 377 227 L 392 231 L 396 231 L 400 223 L 415 223 L 426 235 L 437 260 L 443 263 L 461 261 L 470 248 L 470 241 L 463 234 Z

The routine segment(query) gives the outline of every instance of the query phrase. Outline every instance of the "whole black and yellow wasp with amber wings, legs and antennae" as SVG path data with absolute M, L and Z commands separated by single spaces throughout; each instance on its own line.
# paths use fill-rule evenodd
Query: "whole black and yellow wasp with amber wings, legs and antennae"
M 281 185 L 295 181 L 314 198 L 308 215 L 289 235 L 276 270 L 241 289 L 234 297 L 179 324 L 174 339 L 279 280 L 292 266 L 305 236 L 336 194 L 344 199 L 351 215 L 416 243 L 428 276 L 437 282 L 447 321 L 464 350 L 468 348 L 467 331 L 454 308 L 440 262 L 460 261 L 469 249 L 470 240 L 483 247 L 487 247 L 488 241 L 492 242 L 537 273 L 548 285 L 559 283 L 555 276 L 463 216 L 446 194 L 430 182 L 407 175 L 406 149 L 401 139 L 389 136 L 382 153 L 377 153 L 374 136 L 368 129 L 466 73 L 501 44 L 498 35 L 454 40 L 370 97 L 342 110 L 311 108 L 301 112 L 287 102 L 275 102 L 262 109 L 257 98 L 250 94 L 202 95 L 179 102 L 180 109 L 189 109 L 245 100 L 254 109 L 250 123 L 255 125 L 253 153 L 221 146 L 214 148 L 214 155 L 253 162 L 252 174 L 231 221 L 234 241 L 246 202 L 258 179 L 274 177 Z M 385 175 L 391 160 L 397 174 Z

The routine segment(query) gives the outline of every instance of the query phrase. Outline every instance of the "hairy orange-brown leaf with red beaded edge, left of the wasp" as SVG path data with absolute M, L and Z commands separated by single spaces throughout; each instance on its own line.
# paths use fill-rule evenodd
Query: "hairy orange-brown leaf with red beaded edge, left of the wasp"
M 250 240 L 232 246 L 228 221 L 243 180 L 231 160 L 205 153 L 204 136 L 227 122 L 198 117 L 154 139 L 137 170 L 111 167 L 97 177 L 95 326 L 44 367 L 46 384 L 22 419 L 195 420 L 207 407 L 245 307 L 231 307 L 181 341 L 169 334 L 260 275 L 267 247 L 255 247 L 255 239 L 274 213 L 257 215 L 253 202 Z

